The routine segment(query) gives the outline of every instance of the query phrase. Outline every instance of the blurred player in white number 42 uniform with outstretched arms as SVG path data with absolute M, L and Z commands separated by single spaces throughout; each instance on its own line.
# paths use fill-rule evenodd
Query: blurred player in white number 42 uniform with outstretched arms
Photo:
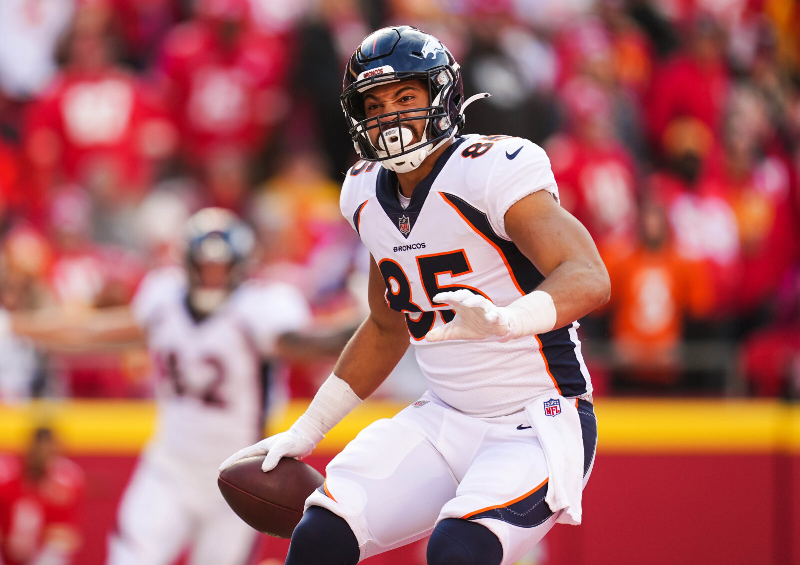
M 302 342 L 310 310 L 286 284 L 245 281 L 254 233 L 228 210 L 206 208 L 186 225 L 186 264 L 146 275 L 130 307 L 79 315 L 73 323 L 15 330 L 60 347 L 99 348 L 145 340 L 158 375 L 158 432 L 122 499 L 110 537 L 110 565 L 238 565 L 256 532 L 216 488 L 230 447 L 261 437 L 270 366 Z M 32 318 L 35 318 L 32 317 Z M 66 319 L 66 317 L 62 317 Z

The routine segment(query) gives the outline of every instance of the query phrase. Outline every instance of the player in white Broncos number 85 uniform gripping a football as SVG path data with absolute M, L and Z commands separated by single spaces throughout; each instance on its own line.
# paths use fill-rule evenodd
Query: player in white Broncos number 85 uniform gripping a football
M 409 343 L 430 390 L 334 458 L 289 565 L 358 563 L 426 535 L 432 565 L 505 565 L 554 523 L 581 523 L 597 423 L 575 320 L 608 301 L 609 277 L 544 150 L 458 135 L 474 98 L 413 27 L 371 34 L 347 66 L 362 161 L 341 205 L 373 257 L 370 316 L 290 430 L 222 467 L 309 455 Z

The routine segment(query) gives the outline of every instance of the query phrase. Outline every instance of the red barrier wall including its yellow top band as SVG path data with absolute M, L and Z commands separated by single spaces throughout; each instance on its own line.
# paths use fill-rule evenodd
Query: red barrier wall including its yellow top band
M 274 431 L 305 410 L 295 403 Z M 401 407 L 364 403 L 308 462 L 330 458 L 374 419 Z M 771 401 L 602 400 L 600 445 L 584 523 L 558 525 L 537 565 L 800 565 L 800 406 Z M 153 432 L 150 403 L 0 406 L 0 452 L 20 452 L 34 425 L 54 427 L 86 471 L 85 544 L 75 565 L 102 565 L 118 500 Z M 215 488 L 214 486 L 213 488 Z M 426 543 L 369 565 L 423 565 Z M 257 565 L 283 563 L 265 538 Z M 526 563 L 529 565 L 529 563 Z

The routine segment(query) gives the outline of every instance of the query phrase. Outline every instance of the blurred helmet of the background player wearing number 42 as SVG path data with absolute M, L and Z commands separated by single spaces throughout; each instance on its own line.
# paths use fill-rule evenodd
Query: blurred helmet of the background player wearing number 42
M 230 210 L 206 208 L 186 222 L 186 270 L 190 302 L 202 314 L 210 314 L 227 299 L 246 275 L 246 263 L 255 245 L 253 230 Z M 226 267 L 224 284 L 209 288 L 202 266 Z

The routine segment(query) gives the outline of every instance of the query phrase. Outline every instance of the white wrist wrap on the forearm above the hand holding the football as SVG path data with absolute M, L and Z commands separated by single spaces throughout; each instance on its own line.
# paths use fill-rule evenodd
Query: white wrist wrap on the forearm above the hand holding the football
M 331 373 L 319 387 L 306 413 L 292 427 L 304 431 L 314 443 L 319 443 L 361 402 L 349 384 Z

